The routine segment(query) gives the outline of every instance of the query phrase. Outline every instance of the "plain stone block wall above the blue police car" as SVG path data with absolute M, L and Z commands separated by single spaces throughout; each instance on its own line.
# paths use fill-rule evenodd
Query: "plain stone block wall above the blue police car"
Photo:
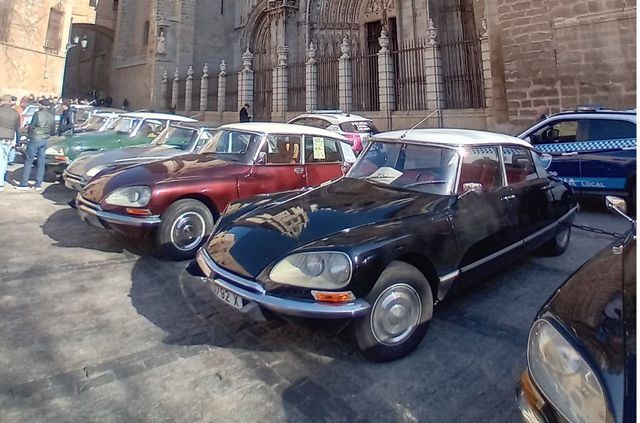
M 635 0 L 497 0 L 508 116 L 636 104 Z

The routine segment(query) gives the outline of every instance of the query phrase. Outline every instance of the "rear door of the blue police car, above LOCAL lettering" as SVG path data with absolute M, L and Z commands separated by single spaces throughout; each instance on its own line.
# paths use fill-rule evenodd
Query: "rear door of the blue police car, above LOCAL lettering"
M 581 191 L 624 191 L 636 167 L 636 124 L 616 119 L 583 119 L 580 146 Z

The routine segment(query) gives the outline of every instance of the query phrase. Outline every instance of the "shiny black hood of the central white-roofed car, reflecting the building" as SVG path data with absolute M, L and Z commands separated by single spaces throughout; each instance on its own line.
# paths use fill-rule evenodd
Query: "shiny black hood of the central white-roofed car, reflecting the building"
M 219 265 L 257 278 L 270 264 L 336 233 L 428 213 L 443 196 L 342 178 L 222 219 L 207 249 Z M 358 240 L 354 239 L 354 243 Z

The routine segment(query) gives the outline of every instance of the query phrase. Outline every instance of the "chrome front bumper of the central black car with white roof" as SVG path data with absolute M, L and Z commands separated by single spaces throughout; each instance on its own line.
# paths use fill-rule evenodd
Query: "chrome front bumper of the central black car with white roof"
M 349 319 L 365 315 L 371 307 L 363 299 L 344 304 L 329 304 L 277 297 L 269 294 L 261 284 L 222 269 L 204 249 L 198 252 L 196 261 L 206 275 L 208 283 L 218 285 L 274 313 L 315 319 Z

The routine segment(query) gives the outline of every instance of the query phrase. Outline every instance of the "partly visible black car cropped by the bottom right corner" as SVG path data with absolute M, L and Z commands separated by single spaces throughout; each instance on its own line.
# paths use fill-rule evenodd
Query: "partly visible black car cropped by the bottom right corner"
M 636 227 L 624 200 L 606 201 L 631 228 L 578 269 L 535 319 L 516 390 L 526 422 L 636 421 Z

